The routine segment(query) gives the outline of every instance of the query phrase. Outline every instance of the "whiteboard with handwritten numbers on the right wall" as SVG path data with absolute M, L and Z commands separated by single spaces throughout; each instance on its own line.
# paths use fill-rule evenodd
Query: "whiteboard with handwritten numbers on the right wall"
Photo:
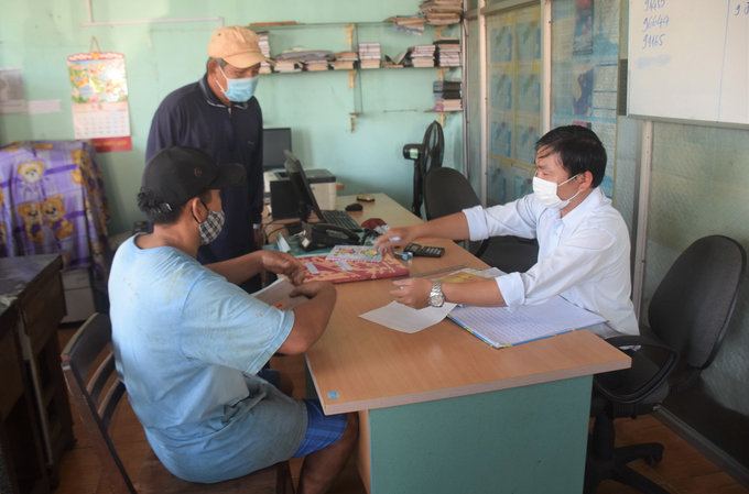
M 630 117 L 749 125 L 749 1 L 629 7 Z

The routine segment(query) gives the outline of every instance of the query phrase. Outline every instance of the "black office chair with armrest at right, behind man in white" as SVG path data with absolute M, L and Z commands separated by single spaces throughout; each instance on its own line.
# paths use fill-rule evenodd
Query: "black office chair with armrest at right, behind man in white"
M 648 308 L 653 336 L 607 340 L 615 347 L 642 345 L 642 350 L 630 352 L 632 366 L 629 371 L 619 371 L 623 374 L 618 378 L 612 376 L 615 373 L 594 378 L 590 416 L 595 417 L 595 424 L 588 441 L 585 494 L 595 493 L 606 479 L 643 493 L 667 493 L 627 466 L 638 458 L 648 464 L 660 462 L 663 444 L 652 442 L 615 449 L 614 419 L 652 414 L 669 393 L 684 391 L 699 378 L 720 348 L 746 264 L 743 248 L 727 237 L 712 235 L 695 241 L 676 259 L 653 294 Z M 644 354 L 652 353 L 653 348 L 660 350 L 655 350 L 650 360 Z

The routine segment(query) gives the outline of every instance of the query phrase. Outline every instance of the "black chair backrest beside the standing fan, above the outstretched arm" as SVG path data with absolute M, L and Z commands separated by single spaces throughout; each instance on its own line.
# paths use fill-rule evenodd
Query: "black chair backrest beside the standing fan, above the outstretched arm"
M 468 179 L 454 168 L 432 168 L 424 178 L 424 209 L 426 219 L 459 212 L 480 205 Z

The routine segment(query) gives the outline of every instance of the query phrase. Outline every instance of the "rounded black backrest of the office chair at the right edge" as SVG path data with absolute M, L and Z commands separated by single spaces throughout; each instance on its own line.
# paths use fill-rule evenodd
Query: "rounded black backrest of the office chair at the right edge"
M 715 359 L 743 281 L 747 254 L 732 239 L 704 237 L 673 263 L 648 309 L 650 329 L 702 371 Z

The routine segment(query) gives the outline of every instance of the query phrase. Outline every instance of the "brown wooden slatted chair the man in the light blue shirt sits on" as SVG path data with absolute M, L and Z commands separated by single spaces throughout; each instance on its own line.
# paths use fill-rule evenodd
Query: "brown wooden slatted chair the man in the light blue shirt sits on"
M 239 479 L 199 484 L 172 475 L 153 451 L 149 452 L 133 484 L 108 432 L 112 414 L 126 393 L 115 370 L 111 338 L 109 317 L 95 314 L 63 350 L 62 365 L 73 403 L 113 494 L 294 493 L 287 461 Z

